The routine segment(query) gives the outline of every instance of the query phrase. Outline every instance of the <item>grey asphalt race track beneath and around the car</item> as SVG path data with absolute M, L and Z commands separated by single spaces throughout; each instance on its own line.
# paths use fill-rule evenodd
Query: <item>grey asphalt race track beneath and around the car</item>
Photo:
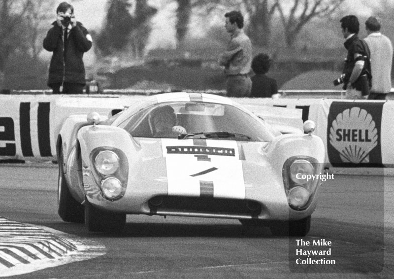
M 58 217 L 56 166 L 0 165 L 0 216 L 101 247 L 94 258 L 10 278 L 394 278 L 394 176 L 388 170 L 344 173 L 336 172 L 320 189 L 306 238 L 273 237 L 266 228 L 236 220 L 140 215 L 129 215 L 125 230 L 109 235 Z M 297 246 L 296 240 L 310 245 Z M 335 264 L 297 265 L 297 258 L 305 258 L 297 249 L 330 249 L 310 258 Z

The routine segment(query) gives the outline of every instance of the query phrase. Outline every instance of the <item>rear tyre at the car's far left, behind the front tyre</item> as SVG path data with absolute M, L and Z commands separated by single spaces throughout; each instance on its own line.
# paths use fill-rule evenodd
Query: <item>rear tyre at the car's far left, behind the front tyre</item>
M 78 203 L 70 193 L 63 169 L 63 151 L 58 155 L 59 176 L 58 176 L 58 213 L 63 221 L 73 223 L 84 222 L 84 208 Z

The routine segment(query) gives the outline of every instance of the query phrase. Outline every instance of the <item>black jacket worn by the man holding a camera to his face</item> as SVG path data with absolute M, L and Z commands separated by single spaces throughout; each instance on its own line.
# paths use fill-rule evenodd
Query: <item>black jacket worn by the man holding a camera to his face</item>
M 87 29 L 82 23 L 77 22 L 68 35 L 66 53 L 64 53 L 63 29 L 56 21 L 52 25 L 43 42 L 44 48 L 53 52 L 48 85 L 63 81 L 85 84 L 85 66 L 82 58 L 84 52 L 92 47 L 92 42 L 86 37 L 89 34 Z

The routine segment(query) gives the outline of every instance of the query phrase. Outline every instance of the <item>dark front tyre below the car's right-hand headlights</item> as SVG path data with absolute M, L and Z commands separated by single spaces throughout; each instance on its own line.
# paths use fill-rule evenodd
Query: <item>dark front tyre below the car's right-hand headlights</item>
M 296 221 L 278 221 L 270 226 L 274 236 L 304 237 L 311 228 L 311 216 Z

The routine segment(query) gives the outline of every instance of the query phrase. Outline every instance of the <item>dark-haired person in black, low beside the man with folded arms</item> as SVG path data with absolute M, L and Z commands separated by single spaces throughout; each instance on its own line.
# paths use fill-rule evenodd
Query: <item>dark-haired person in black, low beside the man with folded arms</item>
M 252 76 L 250 97 L 279 98 L 276 80 L 265 75 L 270 66 L 271 59 L 264 53 L 260 53 L 253 58 L 252 70 L 255 72 L 255 75 Z

